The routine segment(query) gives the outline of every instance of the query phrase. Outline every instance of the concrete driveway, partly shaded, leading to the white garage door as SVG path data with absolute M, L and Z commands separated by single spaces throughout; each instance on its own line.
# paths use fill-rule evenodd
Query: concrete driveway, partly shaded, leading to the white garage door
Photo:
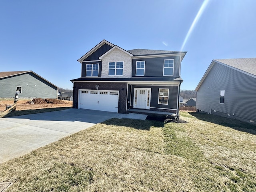
M 110 118 L 124 116 L 113 112 L 71 108 L 0 118 L 0 163 Z

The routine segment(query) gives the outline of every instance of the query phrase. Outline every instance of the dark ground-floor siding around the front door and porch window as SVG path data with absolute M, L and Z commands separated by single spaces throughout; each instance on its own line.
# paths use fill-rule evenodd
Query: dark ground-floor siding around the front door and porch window
M 176 109 L 177 108 L 177 97 L 178 97 L 178 86 L 132 86 L 131 90 L 131 105 L 133 105 L 134 88 L 151 88 L 151 101 L 150 107 L 154 108 L 167 108 Z M 169 102 L 168 105 L 158 104 L 158 93 L 160 88 L 169 89 Z

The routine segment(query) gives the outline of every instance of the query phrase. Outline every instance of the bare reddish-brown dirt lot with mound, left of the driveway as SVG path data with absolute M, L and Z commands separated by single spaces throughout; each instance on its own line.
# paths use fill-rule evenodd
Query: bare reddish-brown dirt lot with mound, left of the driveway
M 58 99 L 41 99 L 33 100 L 34 104 L 30 104 L 32 100 L 18 100 L 16 111 L 28 109 L 44 109 L 44 108 L 58 108 L 58 107 L 72 107 L 72 101 L 58 100 Z M 6 106 L 13 105 L 14 100 L 0 100 L 0 112 L 6 109 Z

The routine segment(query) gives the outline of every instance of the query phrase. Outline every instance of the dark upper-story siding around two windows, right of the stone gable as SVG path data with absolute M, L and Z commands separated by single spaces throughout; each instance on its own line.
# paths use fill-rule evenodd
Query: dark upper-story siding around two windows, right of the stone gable
M 145 61 L 144 77 L 163 77 L 165 59 L 174 59 L 173 76 L 179 77 L 180 76 L 180 56 L 132 59 L 132 77 L 136 77 L 137 61 Z M 141 78 L 141 76 L 139 76 L 139 78 Z

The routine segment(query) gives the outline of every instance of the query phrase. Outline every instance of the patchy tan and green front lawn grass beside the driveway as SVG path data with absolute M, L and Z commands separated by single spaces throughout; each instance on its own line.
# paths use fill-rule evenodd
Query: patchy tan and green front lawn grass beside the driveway
M 111 119 L 0 164 L 8 192 L 256 191 L 256 126 Z

